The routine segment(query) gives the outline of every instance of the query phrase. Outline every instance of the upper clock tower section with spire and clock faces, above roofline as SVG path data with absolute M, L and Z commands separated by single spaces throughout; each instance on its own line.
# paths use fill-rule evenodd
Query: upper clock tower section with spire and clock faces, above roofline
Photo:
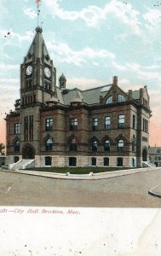
M 42 28 L 36 28 L 32 45 L 20 66 L 20 103 L 28 108 L 42 106 L 55 94 L 56 69 L 43 40 Z

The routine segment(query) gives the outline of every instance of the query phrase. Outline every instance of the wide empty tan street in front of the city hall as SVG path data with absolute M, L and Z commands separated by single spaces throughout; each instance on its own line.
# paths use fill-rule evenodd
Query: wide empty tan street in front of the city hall
M 68 180 L 0 172 L 1 206 L 161 207 L 148 190 L 161 184 L 161 170 L 100 180 Z

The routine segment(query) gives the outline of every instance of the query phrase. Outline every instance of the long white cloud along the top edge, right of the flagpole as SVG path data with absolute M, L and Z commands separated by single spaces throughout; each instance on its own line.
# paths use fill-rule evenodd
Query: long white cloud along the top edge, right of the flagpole
M 49 9 L 49 12 L 53 17 L 59 17 L 61 20 L 84 20 L 87 26 L 95 27 L 101 20 L 106 20 L 107 15 L 113 14 L 125 25 L 129 26 L 135 34 L 141 34 L 140 22 L 137 16 L 139 12 L 132 8 L 132 5 L 124 3 L 118 0 L 112 0 L 107 3 L 104 8 L 100 8 L 95 5 L 89 5 L 89 7 L 81 9 L 80 11 L 66 11 L 60 7 L 60 0 L 48 0 L 44 4 Z

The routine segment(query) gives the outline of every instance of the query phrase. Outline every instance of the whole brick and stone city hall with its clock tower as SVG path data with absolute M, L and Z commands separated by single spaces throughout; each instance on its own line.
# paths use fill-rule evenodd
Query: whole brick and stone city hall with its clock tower
M 69 90 L 63 74 L 56 86 L 56 68 L 39 26 L 20 65 L 20 99 L 14 106 L 6 116 L 10 166 L 129 167 L 148 160 L 147 86 L 125 92 L 115 76 L 112 84 Z

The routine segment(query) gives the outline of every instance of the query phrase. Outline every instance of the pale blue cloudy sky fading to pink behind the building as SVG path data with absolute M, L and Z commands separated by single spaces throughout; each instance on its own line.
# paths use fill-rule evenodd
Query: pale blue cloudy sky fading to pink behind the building
M 161 146 L 161 3 L 155 0 L 41 0 L 39 25 L 66 87 L 147 85 L 150 145 Z M 37 26 L 34 0 L 0 0 L 0 143 L 5 113 L 20 98 L 20 64 Z M 58 84 L 58 82 L 57 82 Z

